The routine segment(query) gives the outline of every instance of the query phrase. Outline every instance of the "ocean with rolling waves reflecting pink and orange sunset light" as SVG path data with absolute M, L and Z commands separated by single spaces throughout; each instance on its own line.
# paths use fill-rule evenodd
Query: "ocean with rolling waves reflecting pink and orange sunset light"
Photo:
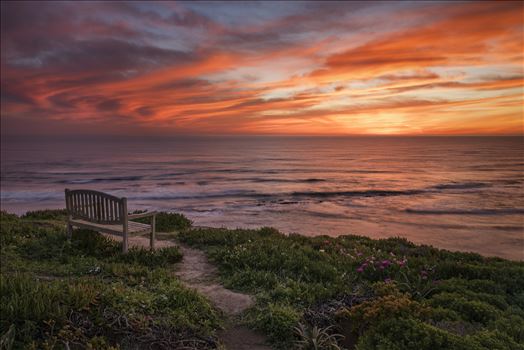
M 181 212 L 195 225 L 405 237 L 524 259 L 522 137 L 2 140 L 2 210 L 63 208 L 64 189 Z

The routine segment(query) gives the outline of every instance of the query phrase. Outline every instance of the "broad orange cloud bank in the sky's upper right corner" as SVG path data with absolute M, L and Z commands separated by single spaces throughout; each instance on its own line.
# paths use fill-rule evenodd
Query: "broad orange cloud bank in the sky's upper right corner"
M 312 76 L 320 80 L 360 78 L 403 69 L 482 65 L 490 60 L 514 60 L 513 56 L 522 59 L 516 47 L 506 45 L 522 42 L 521 3 L 441 6 L 441 11 L 449 16 L 328 57 Z

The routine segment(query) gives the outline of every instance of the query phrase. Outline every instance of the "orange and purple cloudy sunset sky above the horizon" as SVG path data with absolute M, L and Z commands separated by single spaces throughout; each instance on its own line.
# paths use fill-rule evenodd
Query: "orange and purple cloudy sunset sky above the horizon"
M 522 135 L 523 4 L 2 2 L 2 135 Z

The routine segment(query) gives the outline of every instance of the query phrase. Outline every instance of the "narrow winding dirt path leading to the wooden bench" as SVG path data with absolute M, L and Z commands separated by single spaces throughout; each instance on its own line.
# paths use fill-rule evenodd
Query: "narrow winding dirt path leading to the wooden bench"
M 113 238 L 112 236 L 107 236 Z M 149 238 L 130 237 L 129 246 L 149 247 Z M 271 350 L 265 345 L 266 338 L 238 324 L 238 315 L 251 307 L 253 297 L 233 292 L 217 282 L 217 269 L 209 263 L 204 252 L 171 240 L 157 240 L 156 248 L 179 246 L 184 254 L 177 264 L 175 274 L 189 288 L 204 294 L 227 316 L 225 329 L 218 333 L 220 341 L 228 350 Z

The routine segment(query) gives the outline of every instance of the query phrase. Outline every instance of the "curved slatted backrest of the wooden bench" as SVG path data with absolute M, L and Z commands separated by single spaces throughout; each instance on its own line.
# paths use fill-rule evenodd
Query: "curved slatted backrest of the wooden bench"
M 93 190 L 65 190 L 66 208 L 72 218 L 100 224 L 127 220 L 127 199 Z

